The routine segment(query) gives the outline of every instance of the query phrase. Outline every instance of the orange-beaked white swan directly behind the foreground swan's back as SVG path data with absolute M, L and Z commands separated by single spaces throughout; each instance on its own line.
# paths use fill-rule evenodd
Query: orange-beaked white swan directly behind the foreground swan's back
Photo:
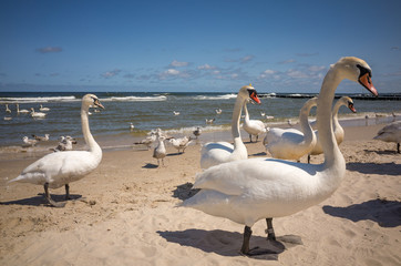
M 200 150 L 202 168 L 208 168 L 220 163 L 244 160 L 248 157 L 248 152 L 240 137 L 239 120 L 243 106 L 249 99 L 260 103 L 256 90 L 250 84 L 243 86 L 239 90 L 237 100 L 234 104 L 232 119 L 232 135 L 234 139 L 234 145 L 228 142 L 206 143 Z

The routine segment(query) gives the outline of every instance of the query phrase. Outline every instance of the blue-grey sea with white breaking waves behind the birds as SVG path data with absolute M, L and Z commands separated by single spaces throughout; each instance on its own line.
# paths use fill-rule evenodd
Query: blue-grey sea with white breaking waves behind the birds
M 104 110 L 91 110 L 90 129 L 103 147 L 130 147 L 144 139 L 152 130 L 162 129 L 169 135 L 191 135 L 200 127 L 203 132 L 222 132 L 230 127 L 236 93 L 206 92 L 91 92 L 100 99 Z M 22 137 L 50 134 L 50 144 L 55 145 L 62 135 L 81 139 L 81 99 L 85 92 L 0 92 L 0 153 L 13 151 L 23 144 Z M 259 93 L 260 104 L 248 104 L 251 119 L 261 120 L 267 126 L 286 125 L 290 120 L 296 124 L 299 110 L 313 94 Z M 340 94 L 337 98 L 341 96 Z M 358 113 L 341 108 L 341 123 L 364 125 L 366 123 L 389 123 L 401 119 L 401 101 L 379 98 L 372 101 L 362 94 L 354 96 Z M 397 98 L 400 99 L 400 98 Z M 40 105 L 49 108 L 44 119 L 30 114 L 18 114 L 20 110 L 37 112 Z M 11 113 L 6 112 L 8 104 Z M 216 110 L 222 113 L 217 114 Z M 179 112 L 175 115 L 174 112 Z M 273 116 L 266 119 L 261 113 Z M 316 111 L 311 112 L 311 120 Z M 366 116 L 369 117 L 367 122 Z M 213 124 L 206 120 L 215 119 Z M 135 126 L 130 130 L 130 123 Z M 48 149 L 48 146 L 45 147 Z M 14 149 L 21 152 L 20 149 Z

